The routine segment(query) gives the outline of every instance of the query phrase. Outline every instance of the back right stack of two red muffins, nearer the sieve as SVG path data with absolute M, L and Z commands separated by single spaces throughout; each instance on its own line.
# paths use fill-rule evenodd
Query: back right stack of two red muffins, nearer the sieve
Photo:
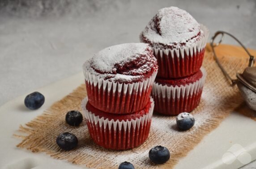
M 158 60 L 153 85 L 154 110 L 178 115 L 195 109 L 201 99 L 206 72 L 202 66 L 209 30 L 188 12 L 162 8 L 140 35 Z

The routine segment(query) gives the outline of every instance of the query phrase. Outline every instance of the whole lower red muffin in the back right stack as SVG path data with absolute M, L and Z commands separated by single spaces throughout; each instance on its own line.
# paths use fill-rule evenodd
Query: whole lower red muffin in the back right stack
M 156 78 L 152 90 L 154 111 L 164 115 L 193 111 L 200 103 L 205 78 L 203 68 L 186 78 Z

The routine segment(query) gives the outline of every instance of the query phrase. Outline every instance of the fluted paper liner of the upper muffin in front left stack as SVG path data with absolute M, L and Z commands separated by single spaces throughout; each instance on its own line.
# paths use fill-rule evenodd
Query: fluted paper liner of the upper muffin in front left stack
M 115 114 L 128 114 L 141 110 L 147 104 L 157 74 L 142 82 L 110 82 L 84 69 L 88 99 L 95 108 Z

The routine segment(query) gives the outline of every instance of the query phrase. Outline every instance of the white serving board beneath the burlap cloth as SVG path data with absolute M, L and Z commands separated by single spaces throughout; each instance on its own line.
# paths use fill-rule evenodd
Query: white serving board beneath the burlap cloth
M 17 148 L 16 145 L 21 139 L 13 136 L 13 133 L 17 133 L 20 124 L 26 124 L 34 119 L 44 109 L 68 95 L 83 82 L 81 72 L 38 90 L 28 91 L 25 95 L 0 107 L 0 169 L 85 168 L 85 166 L 53 159 L 45 153 L 31 153 L 26 149 Z M 36 111 L 30 111 L 24 106 L 24 98 L 33 91 L 43 93 L 46 98 L 44 105 Z M 256 121 L 232 112 L 218 128 L 205 136 L 186 157 L 182 158 L 175 169 L 239 168 L 256 159 L 255 129 Z M 224 161 L 230 164 L 223 163 L 223 155 L 226 157 Z

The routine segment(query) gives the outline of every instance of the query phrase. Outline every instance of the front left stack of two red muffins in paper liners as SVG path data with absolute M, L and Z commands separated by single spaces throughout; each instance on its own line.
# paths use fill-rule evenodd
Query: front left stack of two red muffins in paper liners
M 83 65 L 88 98 L 82 109 L 94 142 L 125 150 L 149 135 L 150 97 L 158 65 L 150 46 L 128 43 L 99 51 Z

